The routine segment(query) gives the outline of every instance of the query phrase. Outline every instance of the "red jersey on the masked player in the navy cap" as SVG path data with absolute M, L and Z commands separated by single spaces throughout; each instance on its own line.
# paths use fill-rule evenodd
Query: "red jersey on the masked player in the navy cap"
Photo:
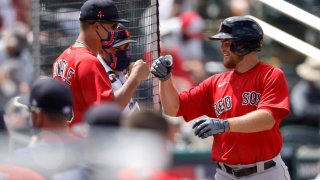
M 53 63 L 52 77 L 71 88 L 74 101 L 71 126 L 83 121 L 83 115 L 91 105 L 113 100 L 108 74 L 87 48 L 67 48 Z

